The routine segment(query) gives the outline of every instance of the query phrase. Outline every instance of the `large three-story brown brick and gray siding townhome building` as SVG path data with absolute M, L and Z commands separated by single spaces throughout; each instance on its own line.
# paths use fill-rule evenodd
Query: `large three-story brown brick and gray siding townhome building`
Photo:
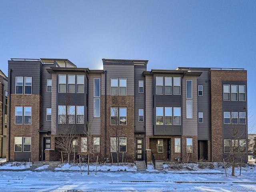
M 102 62 L 91 70 L 67 59 L 8 61 L 8 160 L 60 160 L 56 141 L 68 127 L 73 151 L 100 161 L 222 161 L 233 149 L 247 161 L 244 69 Z

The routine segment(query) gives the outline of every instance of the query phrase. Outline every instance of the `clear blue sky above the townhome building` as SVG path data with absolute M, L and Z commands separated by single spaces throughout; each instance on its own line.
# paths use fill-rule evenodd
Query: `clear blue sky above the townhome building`
M 148 70 L 245 68 L 256 122 L 255 0 L 8 0 L 0 2 L 0 69 L 10 58 L 149 60 Z M 256 133 L 256 129 L 253 130 Z

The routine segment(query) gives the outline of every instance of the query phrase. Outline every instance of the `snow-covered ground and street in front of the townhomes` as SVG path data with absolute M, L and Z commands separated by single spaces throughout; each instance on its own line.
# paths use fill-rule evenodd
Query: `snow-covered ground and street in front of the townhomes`
M 1 161 L 1 159 L 0 159 Z M 4 161 L 4 160 L 3 160 Z M 256 192 L 256 167 L 236 168 L 236 176 L 231 176 L 228 168 L 226 177 L 222 166 L 214 169 L 200 169 L 197 164 L 190 164 L 190 169 L 171 170 L 165 166 L 164 171 L 154 170 L 152 165 L 146 171 L 137 171 L 135 165 L 121 166 L 96 165 L 79 166 L 65 164 L 49 169 L 44 165 L 31 170 L 31 162 L 22 164 L 12 162 L 0 166 L 1 192 L 110 192 L 110 191 L 246 191 Z

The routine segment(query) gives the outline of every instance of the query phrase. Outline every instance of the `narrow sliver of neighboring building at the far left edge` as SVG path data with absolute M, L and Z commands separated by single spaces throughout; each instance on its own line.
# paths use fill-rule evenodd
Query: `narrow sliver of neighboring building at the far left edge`
M 0 70 L 0 157 L 6 158 L 8 77 Z

